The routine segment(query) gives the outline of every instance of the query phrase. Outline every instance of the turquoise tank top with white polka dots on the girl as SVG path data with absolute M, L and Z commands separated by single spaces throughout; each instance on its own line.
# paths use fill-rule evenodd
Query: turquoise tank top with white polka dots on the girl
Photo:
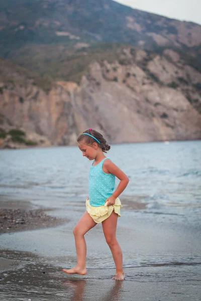
M 115 175 L 103 171 L 105 158 L 89 170 L 88 197 L 89 204 L 94 207 L 103 206 L 115 188 Z M 109 159 L 110 160 L 110 159 Z

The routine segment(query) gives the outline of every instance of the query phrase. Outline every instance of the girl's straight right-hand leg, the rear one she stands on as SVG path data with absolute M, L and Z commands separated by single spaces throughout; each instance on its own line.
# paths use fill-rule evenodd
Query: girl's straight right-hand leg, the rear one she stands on
M 111 216 L 102 222 L 102 226 L 116 265 L 116 275 L 113 279 L 124 280 L 122 250 L 116 238 L 117 219 L 118 215 L 113 211 Z

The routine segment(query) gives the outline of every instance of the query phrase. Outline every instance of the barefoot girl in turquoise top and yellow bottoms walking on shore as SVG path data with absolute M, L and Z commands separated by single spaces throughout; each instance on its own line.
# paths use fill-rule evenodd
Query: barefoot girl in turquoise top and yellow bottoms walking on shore
M 93 160 L 89 171 L 89 197 L 86 199 L 86 211 L 73 229 L 77 252 L 77 265 L 63 269 L 68 274 L 86 274 L 86 243 L 84 234 L 97 223 L 102 223 L 106 241 L 113 254 L 116 275 L 113 279 L 124 280 L 122 250 L 116 239 L 117 219 L 122 207 L 119 195 L 129 183 L 128 177 L 104 153 L 110 149 L 102 134 L 89 128 L 77 138 L 82 155 Z M 115 188 L 115 177 L 120 180 Z

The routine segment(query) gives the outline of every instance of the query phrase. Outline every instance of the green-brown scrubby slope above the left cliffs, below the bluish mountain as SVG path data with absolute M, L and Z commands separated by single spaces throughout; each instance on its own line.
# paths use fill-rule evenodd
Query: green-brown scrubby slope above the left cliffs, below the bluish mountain
M 0 81 L 26 85 L 32 84 L 48 92 L 58 80 L 79 83 L 93 61 L 120 60 L 124 45 L 98 43 L 89 48 L 74 50 L 63 45 L 27 45 L 18 51 L 16 63 L 0 59 Z M 62 49 L 61 49 L 62 48 Z M 8 72 L 9 71 L 9 72 Z

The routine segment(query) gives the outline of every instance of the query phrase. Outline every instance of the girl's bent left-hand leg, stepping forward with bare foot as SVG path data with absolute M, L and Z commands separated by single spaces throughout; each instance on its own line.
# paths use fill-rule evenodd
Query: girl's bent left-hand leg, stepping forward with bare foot
M 97 225 L 94 220 L 90 217 L 88 212 L 85 212 L 76 226 L 73 229 L 75 237 L 75 247 L 77 252 L 77 265 L 71 269 L 63 269 L 68 274 L 86 274 L 86 242 L 84 234 L 91 228 Z

